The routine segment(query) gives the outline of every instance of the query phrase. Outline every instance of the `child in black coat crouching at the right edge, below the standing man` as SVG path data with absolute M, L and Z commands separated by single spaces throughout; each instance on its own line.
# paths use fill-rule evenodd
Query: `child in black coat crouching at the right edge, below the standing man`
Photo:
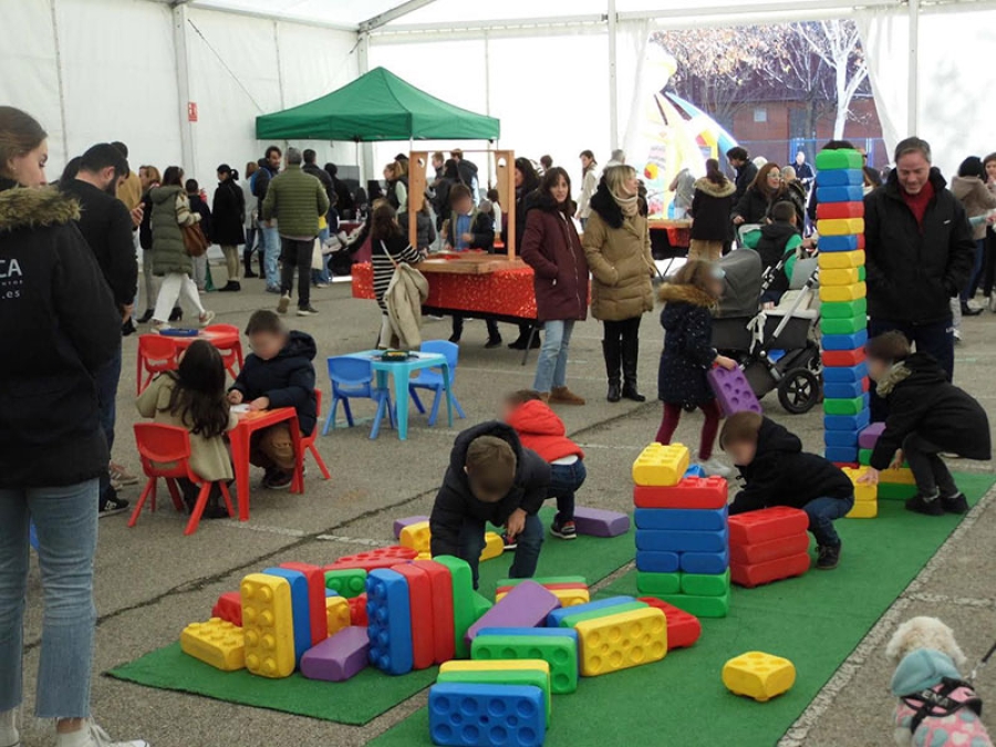
M 886 332 L 868 341 L 868 374 L 879 396 L 889 403 L 885 430 L 872 452 L 871 466 L 859 478 L 872 485 L 879 470 L 910 464 L 916 495 L 906 509 L 928 516 L 964 513 L 968 501 L 941 458 L 942 452 L 966 459 L 992 456 L 986 411 L 947 381 L 932 356 L 913 353 L 902 332 Z

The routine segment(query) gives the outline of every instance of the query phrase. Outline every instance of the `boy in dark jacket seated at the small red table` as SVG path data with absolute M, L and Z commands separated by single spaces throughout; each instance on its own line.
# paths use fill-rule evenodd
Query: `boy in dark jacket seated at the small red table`
M 252 353 L 228 391 L 228 401 L 247 403 L 250 411 L 294 407 L 301 435 L 314 430 L 318 403 L 314 395 L 314 340 L 304 332 L 288 332 L 272 311 L 249 318 L 246 335 Z M 263 487 L 286 490 L 297 466 L 294 443 L 287 423 L 252 434 L 249 461 L 266 469 Z

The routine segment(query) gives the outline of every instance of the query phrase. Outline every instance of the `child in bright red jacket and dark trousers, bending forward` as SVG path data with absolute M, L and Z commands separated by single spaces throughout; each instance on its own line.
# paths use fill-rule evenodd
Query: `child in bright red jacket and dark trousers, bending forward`
M 550 533 L 560 539 L 574 539 L 574 494 L 584 484 L 584 452 L 564 434 L 557 413 L 538 392 L 522 390 L 505 398 L 502 418 L 519 435 L 522 446 L 539 454 L 550 465 L 547 498 L 557 499 L 557 516 Z

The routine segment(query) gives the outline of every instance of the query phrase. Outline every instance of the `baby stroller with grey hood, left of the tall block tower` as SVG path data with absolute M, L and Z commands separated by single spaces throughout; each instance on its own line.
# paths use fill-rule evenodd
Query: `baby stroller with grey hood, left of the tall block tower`
M 713 320 L 713 345 L 739 362 L 758 400 L 777 388 L 781 406 L 801 414 L 820 401 L 822 364 L 815 336 L 819 268 L 816 259 L 797 261 L 781 303 L 762 309 L 760 298 L 784 263 L 762 273 L 753 249 L 738 249 L 719 261 L 726 289 Z

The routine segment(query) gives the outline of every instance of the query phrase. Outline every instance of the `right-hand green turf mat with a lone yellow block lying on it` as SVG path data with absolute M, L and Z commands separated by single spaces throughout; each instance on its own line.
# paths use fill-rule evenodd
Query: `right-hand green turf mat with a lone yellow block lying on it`
M 996 481 L 955 477 L 973 505 Z M 556 695 L 547 747 L 775 745 L 961 521 L 910 513 L 894 501 L 880 502 L 879 511 L 876 519 L 837 522 L 843 539 L 837 570 L 757 589 L 734 587 L 729 616 L 703 619 L 693 647 L 655 664 L 582 677 L 577 693 Z M 599 595 L 616 594 L 636 594 L 635 572 Z M 793 662 L 792 689 L 768 703 L 730 694 L 720 679 L 723 664 L 753 650 Z M 425 708 L 371 743 L 430 744 Z

